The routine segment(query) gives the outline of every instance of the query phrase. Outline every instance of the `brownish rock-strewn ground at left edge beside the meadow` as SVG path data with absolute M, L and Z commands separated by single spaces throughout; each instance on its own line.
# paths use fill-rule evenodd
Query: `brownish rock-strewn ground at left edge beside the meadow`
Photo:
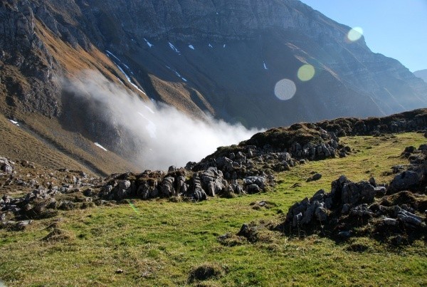
M 0 157 L 0 228 L 22 230 L 33 219 L 56 216 L 58 210 L 100 204 L 86 197 L 83 191 L 101 182 L 102 179 L 81 171 L 43 169 L 33 162 L 14 162 Z

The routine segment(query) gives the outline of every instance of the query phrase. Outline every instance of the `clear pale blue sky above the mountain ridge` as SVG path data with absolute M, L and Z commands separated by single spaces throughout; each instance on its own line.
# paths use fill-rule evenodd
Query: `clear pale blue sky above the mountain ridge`
M 301 0 L 329 18 L 361 27 L 375 53 L 410 71 L 427 69 L 427 0 Z

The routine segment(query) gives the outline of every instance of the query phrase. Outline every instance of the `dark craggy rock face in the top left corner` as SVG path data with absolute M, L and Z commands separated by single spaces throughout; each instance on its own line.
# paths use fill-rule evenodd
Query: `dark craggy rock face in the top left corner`
M 0 63 L 11 67 L 0 72 L 0 82 L 9 95 L 17 97 L 11 98 L 8 105 L 17 106 L 19 102 L 26 112 L 60 115 L 60 89 L 52 80 L 55 64 L 37 36 L 31 2 L 2 1 L 0 19 Z

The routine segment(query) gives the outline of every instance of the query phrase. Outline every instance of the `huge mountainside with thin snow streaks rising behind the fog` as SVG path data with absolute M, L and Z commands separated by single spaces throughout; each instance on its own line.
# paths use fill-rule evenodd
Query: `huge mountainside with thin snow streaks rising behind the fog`
M 88 69 L 146 100 L 252 127 L 427 105 L 426 83 L 297 0 L 7 0 L 0 16 L 2 112 L 57 117 L 87 137 L 123 135 L 55 80 Z M 314 71 L 298 75 L 306 64 Z

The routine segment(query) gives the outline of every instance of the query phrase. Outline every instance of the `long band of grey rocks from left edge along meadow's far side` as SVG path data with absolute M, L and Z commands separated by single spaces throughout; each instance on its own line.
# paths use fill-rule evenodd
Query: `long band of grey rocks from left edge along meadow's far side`
M 290 169 L 306 160 L 345 156 L 350 152 L 348 147 L 339 145 L 333 132 L 320 128 L 295 129 L 295 132 L 303 132 L 305 142 L 303 145 L 293 142 L 289 150 L 270 145 L 247 145 L 238 150 L 223 147 L 218 149 L 221 155 L 214 157 L 214 154 L 199 163 L 189 162 L 186 168 L 111 174 L 105 179 L 68 169 L 37 174 L 33 163 L 1 158 L 1 186 L 11 193 L 20 189 L 26 194 L 23 197 L 4 195 L 0 199 L 2 226 L 24 229 L 31 220 L 56 216 L 58 210 L 127 203 L 127 199 L 201 201 L 209 197 L 264 192 L 275 183 L 274 172 Z

